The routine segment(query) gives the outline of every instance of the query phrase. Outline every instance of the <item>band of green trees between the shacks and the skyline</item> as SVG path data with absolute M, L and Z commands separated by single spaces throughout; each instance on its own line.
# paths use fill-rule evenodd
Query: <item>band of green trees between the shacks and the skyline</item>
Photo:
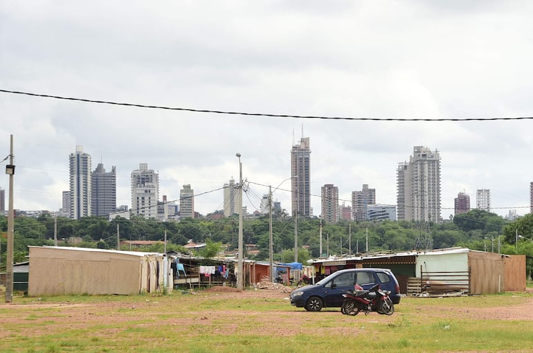
M 322 254 L 320 254 L 320 224 L 322 224 Z M 73 220 L 64 217 L 41 215 L 15 218 L 15 262 L 26 261 L 28 246 L 53 245 L 91 248 L 116 248 L 117 230 L 120 240 L 163 241 L 166 231 L 167 250 L 186 251 L 183 245 L 195 243 L 224 246 L 237 251 L 239 221 L 237 217 L 221 219 L 181 219 L 161 222 L 135 216 L 131 219 L 117 217 L 108 221 L 101 217 L 83 217 Z M 292 262 L 294 259 L 294 228 L 291 217 L 278 215 L 273 219 L 273 257 L 275 261 Z M 0 218 L 1 264 L 6 263 L 7 217 Z M 519 236 L 517 236 L 519 235 Z M 533 215 L 515 221 L 484 210 L 471 210 L 455 215 L 453 221 L 420 224 L 415 221 L 338 221 L 327 224 L 318 218 L 298 219 L 298 261 L 305 263 L 320 255 L 348 253 L 412 251 L 420 237 L 431 239 L 431 248 L 464 246 L 473 250 L 493 251 L 509 255 L 527 255 L 530 273 L 533 258 Z M 72 240 L 78 242 L 73 243 Z M 518 242 L 516 242 L 518 239 Z M 257 255 L 246 253 L 251 260 L 269 260 L 269 218 L 244 219 L 244 244 L 255 244 Z M 215 247 L 216 248 L 216 247 Z M 143 251 L 163 251 L 163 245 L 143 248 Z

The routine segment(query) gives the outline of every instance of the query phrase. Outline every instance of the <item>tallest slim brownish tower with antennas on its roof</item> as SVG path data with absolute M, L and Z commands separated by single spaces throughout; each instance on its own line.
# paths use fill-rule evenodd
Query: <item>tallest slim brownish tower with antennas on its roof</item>
M 311 149 L 309 137 L 302 137 L 291 150 L 292 212 L 311 217 Z

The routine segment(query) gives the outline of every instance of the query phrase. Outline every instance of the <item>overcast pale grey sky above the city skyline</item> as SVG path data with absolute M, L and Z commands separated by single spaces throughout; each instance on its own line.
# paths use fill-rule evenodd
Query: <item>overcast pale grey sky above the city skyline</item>
M 142 105 L 352 118 L 533 116 L 531 1 L 0 1 L 0 89 Z M 69 154 L 130 174 L 159 171 L 160 194 L 190 183 L 195 209 L 223 208 L 243 177 L 273 188 L 290 151 L 311 145 L 311 197 L 362 184 L 396 204 L 415 145 L 442 159 L 442 217 L 458 192 L 491 190 L 500 215 L 529 212 L 533 121 L 359 121 L 141 109 L 0 92 L 0 159 L 15 140 L 15 208 L 58 210 Z M 5 168 L 3 165 L 1 168 Z M 3 172 L 2 172 L 3 174 Z M 0 178 L 8 190 L 8 176 Z M 280 189 L 289 190 L 285 181 Z M 268 188 L 251 184 L 249 212 Z M 7 207 L 6 192 L 6 207 Z M 290 192 L 274 199 L 291 210 Z M 341 201 L 342 202 L 342 201 Z

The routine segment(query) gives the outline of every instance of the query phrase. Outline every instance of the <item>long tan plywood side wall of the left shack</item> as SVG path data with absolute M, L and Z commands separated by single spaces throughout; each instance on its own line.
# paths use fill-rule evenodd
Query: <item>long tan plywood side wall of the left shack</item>
M 30 247 L 28 295 L 137 294 L 141 260 L 129 253 Z

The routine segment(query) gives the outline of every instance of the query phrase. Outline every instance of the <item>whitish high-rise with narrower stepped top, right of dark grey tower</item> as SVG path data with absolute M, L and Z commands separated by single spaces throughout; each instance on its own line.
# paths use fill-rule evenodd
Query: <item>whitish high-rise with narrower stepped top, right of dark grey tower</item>
M 145 219 L 157 219 L 159 201 L 159 174 L 148 169 L 147 163 L 139 163 L 139 169 L 132 171 L 132 215 L 143 215 Z

